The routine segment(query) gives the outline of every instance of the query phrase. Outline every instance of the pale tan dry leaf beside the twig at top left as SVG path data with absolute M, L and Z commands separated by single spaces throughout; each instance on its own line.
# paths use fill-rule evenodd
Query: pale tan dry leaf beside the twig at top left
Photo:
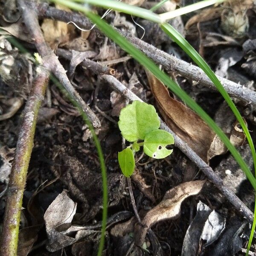
M 65 6 L 56 4 L 56 8 L 70 12 L 70 9 Z M 45 41 L 52 49 L 57 49 L 58 45 L 66 44 L 76 35 L 75 26 L 58 20 L 44 19 L 41 29 L 43 30 Z

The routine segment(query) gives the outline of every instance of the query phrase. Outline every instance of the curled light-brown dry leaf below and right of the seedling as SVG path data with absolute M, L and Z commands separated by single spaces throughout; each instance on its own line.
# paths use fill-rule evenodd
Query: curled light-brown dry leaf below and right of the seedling
M 168 190 L 163 200 L 148 211 L 142 220 L 142 225 L 137 224 L 134 229 L 134 241 L 138 246 L 144 242 L 148 229 L 166 219 L 172 219 L 180 215 L 181 203 L 191 195 L 197 195 L 204 186 L 205 180 L 194 180 L 182 183 Z

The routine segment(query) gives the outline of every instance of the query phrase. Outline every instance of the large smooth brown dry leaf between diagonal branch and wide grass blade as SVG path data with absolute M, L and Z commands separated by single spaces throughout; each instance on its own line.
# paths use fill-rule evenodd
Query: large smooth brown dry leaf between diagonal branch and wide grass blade
M 173 99 L 168 89 L 155 76 L 149 72 L 147 76 L 158 109 L 166 124 L 206 161 L 207 151 L 215 133 L 197 113 Z

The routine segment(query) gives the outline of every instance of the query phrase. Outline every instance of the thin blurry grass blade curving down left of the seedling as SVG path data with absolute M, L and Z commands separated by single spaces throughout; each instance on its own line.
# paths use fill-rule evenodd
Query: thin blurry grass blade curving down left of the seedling
M 17 47 L 19 49 L 20 52 L 22 53 L 28 53 L 29 51 L 23 47 L 22 44 L 20 44 L 16 38 L 14 37 L 9 37 L 6 38 L 12 45 L 14 45 L 15 47 Z M 34 57 L 32 57 L 32 61 L 36 62 Z M 102 251 L 104 248 L 104 243 L 105 243 L 105 231 L 106 231 L 106 227 L 107 227 L 107 217 L 108 217 L 108 178 L 107 178 L 107 169 L 105 166 L 105 160 L 104 160 L 104 155 L 102 152 L 102 148 L 99 142 L 99 139 L 95 133 L 95 130 L 93 128 L 93 125 L 90 123 L 90 121 L 87 118 L 86 113 L 84 113 L 84 111 L 82 110 L 82 108 L 78 105 L 78 103 L 73 100 L 73 98 L 69 95 L 69 93 L 67 92 L 67 90 L 65 90 L 65 88 L 63 87 L 63 85 L 60 83 L 60 81 L 58 81 L 58 79 L 53 76 L 52 74 L 50 75 L 50 79 L 51 81 L 61 90 L 61 92 L 67 96 L 68 99 L 70 99 L 70 102 L 73 103 L 73 105 L 78 109 L 79 113 L 81 114 L 85 124 L 88 126 L 88 128 L 90 129 L 90 132 L 92 134 L 93 137 L 93 141 L 99 156 L 99 163 L 100 163 L 100 168 L 101 168 L 101 172 L 102 172 L 102 235 L 101 235 L 101 239 L 99 242 L 99 249 L 98 249 L 98 256 L 102 255 Z

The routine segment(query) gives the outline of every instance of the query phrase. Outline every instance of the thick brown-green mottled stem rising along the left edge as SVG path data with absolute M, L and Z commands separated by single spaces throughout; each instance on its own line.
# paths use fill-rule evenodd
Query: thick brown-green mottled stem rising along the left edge
M 41 101 L 44 99 L 44 93 L 49 79 L 48 70 L 38 67 L 37 73 L 38 75 L 33 82 L 32 90 L 23 112 L 24 116 L 20 126 L 15 158 L 12 163 L 0 240 L 0 255 L 17 255 L 20 211 L 26 183 L 26 174 L 33 148 L 38 111 Z

